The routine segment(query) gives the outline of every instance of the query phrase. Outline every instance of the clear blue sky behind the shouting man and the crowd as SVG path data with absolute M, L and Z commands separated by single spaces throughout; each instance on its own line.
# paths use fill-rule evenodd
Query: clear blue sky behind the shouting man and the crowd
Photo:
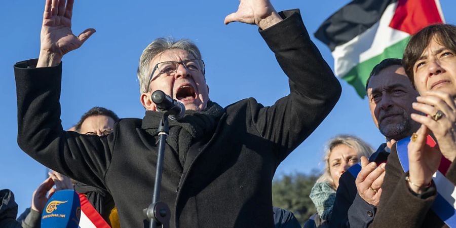
M 411 0 L 410 0 L 411 1 Z M 109 2 L 109 5 L 107 4 Z M 348 0 L 273 0 L 277 11 L 299 8 L 308 31 L 324 59 L 333 66 L 329 49 L 313 32 Z M 31 195 L 45 178 L 45 168 L 17 146 L 15 62 L 37 58 L 44 8 L 41 1 L 2 3 L 0 23 L 0 189 L 10 188 L 19 213 L 29 207 Z M 121 118 L 142 118 L 136 68 L 147 44 L 160 36 L 195 41 L 206 63 L 210 98 L 229 105 L 255 97 L 273 104 L 289 92 L 288 80 L 256 26 L 233 23 L 224 17 L 235 12 L 238 1 L 87 1 L 77 0 L 73 32 L 92 27 L 97 32 L 79 50 L 63 58 L 62 125 L 69 128 L 93 106 L 104 106 Z M 440 0 L 447 23 L 456 23 L 456 2 Z M 295 171 L 322 169 L 323 144 L 336 134 L 357 135 L 374 148 L 384 142 L 375 128 L 366 99 L 345 81 L 339 102 L 317 130 L 279 166 L 276 177 Z M 128 151 L 125 151 L 128 153 Z M 150 193 L 152 194 L 152 193 Z

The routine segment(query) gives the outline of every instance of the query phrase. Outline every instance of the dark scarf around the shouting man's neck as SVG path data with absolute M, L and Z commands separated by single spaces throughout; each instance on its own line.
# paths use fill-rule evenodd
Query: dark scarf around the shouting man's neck
M 201 136 L 212 134 L 224 109 L 215 102 L 209 101 L 203 111 L 185 110 L 185 116 L 179 121 L 169 120 L 169 135 L 166 142 L 179 156 L 182 166 L 192 142 Z M 162 120 L 162 113 L 146 111 L 142 120 L 142 128 L 151 136 L 158 135 L 158 126 Z

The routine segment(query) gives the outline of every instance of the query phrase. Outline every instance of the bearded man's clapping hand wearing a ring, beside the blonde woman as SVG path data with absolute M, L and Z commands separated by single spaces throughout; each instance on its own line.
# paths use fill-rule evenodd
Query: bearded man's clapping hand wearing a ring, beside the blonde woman
M 358 195 L 367 203 L 378 206 L 382 196 L 382 184 L 385 177 L 385 163 L 379 165 L 369 163 L 366 157 L 361 157 L 361 171 L 356 177 L 355 184 Z

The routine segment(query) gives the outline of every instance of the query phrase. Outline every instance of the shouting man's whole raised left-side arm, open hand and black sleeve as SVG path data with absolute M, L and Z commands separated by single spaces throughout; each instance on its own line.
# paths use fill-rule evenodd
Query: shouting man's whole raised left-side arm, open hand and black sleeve
M 72 34 L 72 6 L 72 0 L 66 5 L 64 0 L 46 1 L 40 59 L 14 66 L 18 145 L 36 161 L 65 176 L 104 187 L 113 137 L 65 132 L 60 120 L 61 57 L 79 48 L 94 32 L 88 29 L 78 37 Z

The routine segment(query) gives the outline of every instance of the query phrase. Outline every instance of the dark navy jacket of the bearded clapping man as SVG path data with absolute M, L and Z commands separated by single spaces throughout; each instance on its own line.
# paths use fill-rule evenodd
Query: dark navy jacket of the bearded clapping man
M 377 164 L 385 162 L 390 155 L 387 150 L 389 149 L 386 147 L 386 143 L 383 143 L 370 156 L 369 162 Z M 358 195 L 355 180 L 356 177 L 350 172 L 345 172 L 340 176 L 332 207 L 330 227 L 366 227 L 375 216 L 376 207 Z

